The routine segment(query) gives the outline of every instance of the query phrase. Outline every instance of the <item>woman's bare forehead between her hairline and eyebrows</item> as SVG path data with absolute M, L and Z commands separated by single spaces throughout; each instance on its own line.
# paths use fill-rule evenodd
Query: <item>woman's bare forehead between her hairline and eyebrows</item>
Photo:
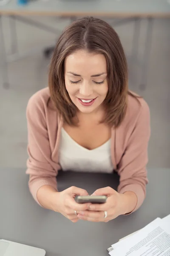
M 107 62 L 103 54 L 78 50 L 65 58 L 65 72 L 92 76 L 107 72 Z

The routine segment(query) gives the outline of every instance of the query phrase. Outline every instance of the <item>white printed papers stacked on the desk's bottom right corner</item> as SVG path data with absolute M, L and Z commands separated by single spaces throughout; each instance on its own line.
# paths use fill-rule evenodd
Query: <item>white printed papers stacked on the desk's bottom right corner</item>
M 114 244 L 113 244 L 114 246 Z M 112 247 L 113 247 L 112 246 Z M 170 215 L 117 243 L 111 256 L 170 256 Z

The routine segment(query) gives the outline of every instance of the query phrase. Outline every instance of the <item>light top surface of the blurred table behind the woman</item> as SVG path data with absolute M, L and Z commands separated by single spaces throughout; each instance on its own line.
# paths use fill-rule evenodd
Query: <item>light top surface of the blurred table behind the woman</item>
M 0 6 L 6 15 L 100 15 L 110 17 L 170 17 L 169 0 L 30 0 L 18 6 L 11 0 Z

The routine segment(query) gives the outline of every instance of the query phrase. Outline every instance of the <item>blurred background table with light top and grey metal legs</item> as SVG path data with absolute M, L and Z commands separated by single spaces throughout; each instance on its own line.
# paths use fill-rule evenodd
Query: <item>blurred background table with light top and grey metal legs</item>
M 11 52 L 6 55 L 6 47 L 3 36 L 2 16 L 8 15 L 11 18 Z M 170 17 L 170 4 L 167 0 L 30 0 L 25 6 L 18 6 L 17 0 L 11 0 L 6 5 L 0 6 L 0 45 L 3 86 L 8 88 L 8 62 L 34 54 L 38 49 L 20 53 L 17 48 L 17 33 L 15 20 L 37 26 L 40 29 L 51 31 L 59 35 L 60 31 L 44 24 L 28 19 L 26 16 L 45 15 L 56 17 L 69 17 L 71 21 L 77 17 L 95 16 L 111 18 L 113 27 L 123 25 L 127 22 L 134 22 L 134 33 L 130 61 L 135 62 L 141 68 L 141 79 L 139 87 L 144 90 L 147 84 L 147 68 L 152 39 L 152 25 L 154 18 Z M 114 21 L 115 18 L 119 20 Z M 147 19 L 147 29 L 144 43 L 143 56 L 139 59 L 139 36 L 140 22 Z M 53 47 L 45 49 L 45 56 L 50 55 Z

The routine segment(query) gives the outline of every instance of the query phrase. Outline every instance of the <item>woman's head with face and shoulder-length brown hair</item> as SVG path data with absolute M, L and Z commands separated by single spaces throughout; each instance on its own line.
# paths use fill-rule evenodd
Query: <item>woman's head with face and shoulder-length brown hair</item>
M 92 94 L 97 92 L 96 87 L 92 92 L 93 85 L 98 85 L 100 97 L 94 104 L 87 105 L 90 108 L 84 108 L 83 112 L 92 113 L 103 102 L 100 109 L 105 109 L 105 113 L 99 119 L 102 118 L 108 125 L 119 126 L 125 116 L 127 95 L 131 95 L 127 80 L 125 52 L 119 36 L 108 23 L 87 17 L 65 28 L 51 60 L 49 89 L 51 99 L 66 123 L 77 123 L 77 108 L 81 107 L 82 111 L 82 106 L 85 106 L 77 105 L 81 103 L 78 102 L 79 96 L 85 100 L 94 99 Z M 69 92 L 69 84 L 79 85 L 77 100 Z

